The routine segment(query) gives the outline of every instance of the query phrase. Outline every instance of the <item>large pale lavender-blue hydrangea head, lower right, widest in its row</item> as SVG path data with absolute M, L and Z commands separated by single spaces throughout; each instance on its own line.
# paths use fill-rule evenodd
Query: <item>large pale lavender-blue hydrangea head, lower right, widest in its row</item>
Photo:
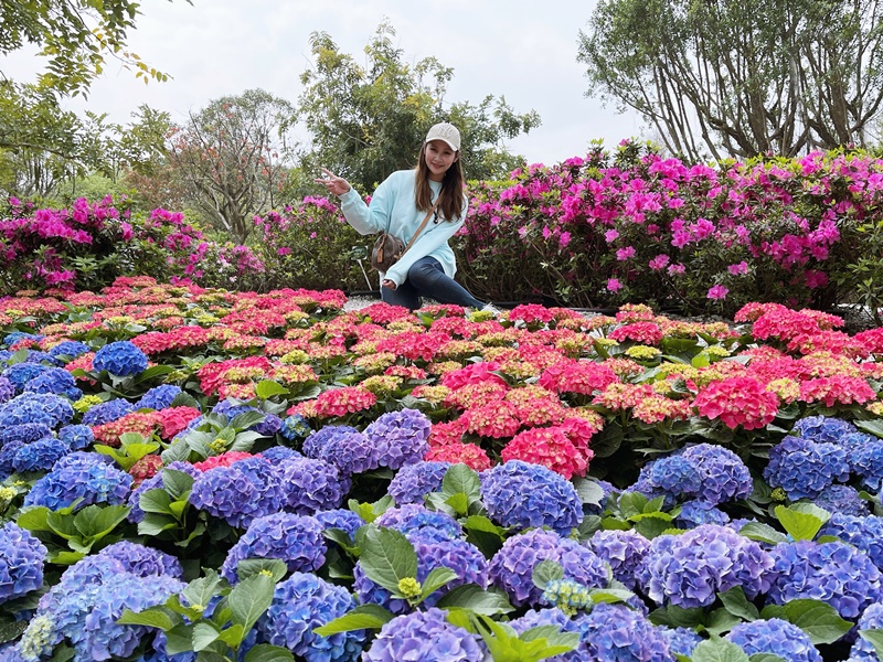
M 749 598 L 769 585 L 774 559 L 732 528 L 702 524 L 650 543 L 640 570 L 643 592 L 657 605 L 708 607 L 723 592 L 742 587 Z

